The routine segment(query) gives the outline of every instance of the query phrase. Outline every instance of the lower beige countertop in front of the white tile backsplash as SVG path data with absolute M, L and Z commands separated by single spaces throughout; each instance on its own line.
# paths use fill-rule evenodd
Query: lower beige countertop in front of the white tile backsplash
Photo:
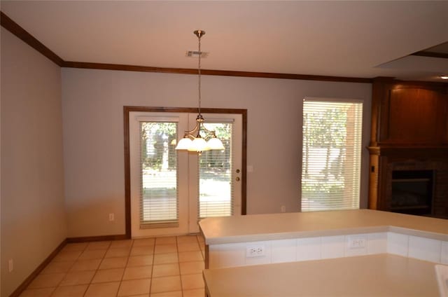
M 209 297 L 439 296 L 434 263 L 391 254 L 209 269 L 204 279 Z

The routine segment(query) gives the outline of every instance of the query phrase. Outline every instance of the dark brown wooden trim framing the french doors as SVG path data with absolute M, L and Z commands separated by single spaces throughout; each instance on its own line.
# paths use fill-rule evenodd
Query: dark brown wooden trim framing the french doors
M 126 237 L 131 238 L 131 170 L 130 170 L 130 112 L 148 111 L 148 112 L 178 112 L 178 113 L 197 113 L 194 107 L 146 107 L 146 106 L 123 106 L 124 122 L 124 146 L 125 146 L 125 230 Z M 242 133 L 241 133 L 241 214 L 246 214 L 246 167 L 247 167 L 247 109 L 204 109 L 201 113 L 230 113 L 241 114 Z

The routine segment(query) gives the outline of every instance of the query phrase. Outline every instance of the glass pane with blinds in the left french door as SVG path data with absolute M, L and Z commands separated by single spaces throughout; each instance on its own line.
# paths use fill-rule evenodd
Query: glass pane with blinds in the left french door
M 176 131 L 177 123 L 140 123 L 140 228 L 179 225 Z

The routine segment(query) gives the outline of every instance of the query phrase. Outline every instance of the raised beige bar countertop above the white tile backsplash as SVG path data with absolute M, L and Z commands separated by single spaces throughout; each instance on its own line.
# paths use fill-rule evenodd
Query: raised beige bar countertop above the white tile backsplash
M 199 225 L 206 244 L 388 231 L 448 241 L 448 219 L 372 209 L 225 216 Z

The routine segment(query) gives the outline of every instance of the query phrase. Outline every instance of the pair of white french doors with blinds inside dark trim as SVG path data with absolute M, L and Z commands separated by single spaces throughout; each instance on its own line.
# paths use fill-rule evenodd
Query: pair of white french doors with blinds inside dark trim
M 197 233 L 209 216 L 241 214 L 242 115 L 203 113 L 224 151 L 176 151 L 197 113 L 129 113 L 132 237 Z

